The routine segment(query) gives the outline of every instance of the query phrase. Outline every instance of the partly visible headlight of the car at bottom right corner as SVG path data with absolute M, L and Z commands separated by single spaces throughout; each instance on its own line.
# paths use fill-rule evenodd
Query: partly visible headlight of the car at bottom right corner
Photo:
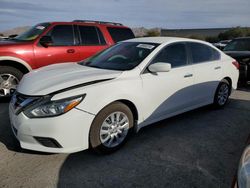
M 250 187 L 250 146 L 244 150 L 241 156 L 237 179 L 239 188 Z

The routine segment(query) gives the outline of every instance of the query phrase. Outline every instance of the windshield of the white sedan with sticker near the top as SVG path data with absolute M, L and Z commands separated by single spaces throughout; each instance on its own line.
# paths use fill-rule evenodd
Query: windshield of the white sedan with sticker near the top
M 118 43 L 79 64 L 110 70 L 131 70 L 139 65 L 159 44 Z

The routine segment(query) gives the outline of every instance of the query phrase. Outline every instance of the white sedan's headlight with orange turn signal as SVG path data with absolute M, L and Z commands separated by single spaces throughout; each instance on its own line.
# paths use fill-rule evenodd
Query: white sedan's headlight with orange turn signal
M 76 107 L 85 97 L 76 96 L 66 99 L 51 101 L 50 99 L 44 99 L 30 108 L 24 111 L 24 114 L 29 118 L 42 118 L 42 117 L 53 117 L 64 114 Z

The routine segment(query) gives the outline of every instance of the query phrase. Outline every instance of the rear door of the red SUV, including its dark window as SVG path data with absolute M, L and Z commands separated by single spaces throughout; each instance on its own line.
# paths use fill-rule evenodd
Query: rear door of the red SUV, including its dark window
M 96 26 L 76 25 L 80 59 L 84 60 L 97 52 L 109 47 L 101 30 Z

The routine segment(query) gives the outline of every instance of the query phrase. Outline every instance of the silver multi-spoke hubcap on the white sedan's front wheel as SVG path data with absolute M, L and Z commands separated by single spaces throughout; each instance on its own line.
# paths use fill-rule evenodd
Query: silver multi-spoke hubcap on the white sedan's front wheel
M 128 116 L 123 112 L 113 112 L 101 125 L 101 143 L 108 148 L 118 146 L 126 138 L 128 130 Z

